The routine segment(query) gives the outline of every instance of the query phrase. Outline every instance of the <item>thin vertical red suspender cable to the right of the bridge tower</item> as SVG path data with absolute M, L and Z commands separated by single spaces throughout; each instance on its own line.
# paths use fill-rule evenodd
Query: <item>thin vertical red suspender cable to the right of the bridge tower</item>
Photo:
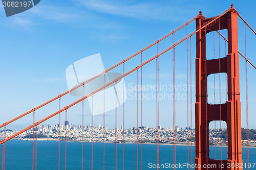
M 245 36 L 245 58 L 246 58 L 246 24 L 244 24 Z M 248 79 L 247 79 L 247 61 L 245 60 L 245 90 L 246 90 L 246 128 L 247 128 L 247 168 L 249 170 L 249 119 L 248 119 Z

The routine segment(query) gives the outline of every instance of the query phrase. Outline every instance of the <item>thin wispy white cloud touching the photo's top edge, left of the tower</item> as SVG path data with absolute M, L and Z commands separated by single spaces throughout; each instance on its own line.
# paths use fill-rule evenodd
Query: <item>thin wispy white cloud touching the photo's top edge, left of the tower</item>
M 73 0 L 87 7 L 90 10 L 121 15 L 126 17 L 135 17 L 140 19 L 157 20 L 181 20 L 182 17 L 191 16 L 195 10 L 184 6 L 164 6 L 158 2 L 129 3 L 120 1 L 95 1 L 95 0 Z M 196 10 L 197 11 L 197 10 Z M 179 17 L 177 17 L 179 16 Z M 192 15 L 193 16 L 193 15 Z

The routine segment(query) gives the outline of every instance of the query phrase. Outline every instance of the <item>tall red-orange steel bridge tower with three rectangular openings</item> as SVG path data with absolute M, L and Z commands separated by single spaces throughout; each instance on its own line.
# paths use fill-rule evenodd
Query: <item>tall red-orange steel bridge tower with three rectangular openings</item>
M 200 12 L 196 19 L 196 28 L 200 29 L 213 18 L 205 18 Z M 206 34 L 212 31 L 227 29 L 228 54 L 224 58 L 207 60 Z M 197 169 L 242 169 L 227 164 L 243 164 L 241 143 L 241 104 L 239 87 L 239 56 L 238 56 L 238 12 L 231 6 L 230 10 L 212 22 L 196 35 L 196 158 L 195 163 L 206 165 Z M 228 100 L 224 104 L 208 104 L 207 76 L 210 74 L 227 74 Z M 209 123 L 223 120 L 227 124 L 227 160 L 209 158 Z M 208 166 L 207 164 L 216 164 Z M 224 164 L 220 167 L 220 164 Z

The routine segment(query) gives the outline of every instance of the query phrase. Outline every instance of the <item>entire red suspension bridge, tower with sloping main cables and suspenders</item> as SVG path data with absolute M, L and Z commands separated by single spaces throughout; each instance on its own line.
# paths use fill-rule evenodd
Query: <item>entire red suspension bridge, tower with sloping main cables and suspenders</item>
M 238 17 L 242 19 L 242 21 L 245 24 L 245 54 L 243 55 L 238 51 Z M 181 28 L 188 27 L 189 23 L 196 21 L 196 31 L 188 35 L 188 32 L 186 33 L 186 37 L 181 39 L 178 42 L 174 42 L 174 34 L 180 30 Z M 144 65 L 147 63 L 156 61 L 156 162 L 159 164 L 159 57 L 163 55 L 164 53 L 168 52 L 169 50 L 173 50 L 173 86 L 175 87 L 176 85 L 176 54 L 175 54 L 175 48 L 177 45 L 179 45 L 181 42 L 186 41 L 186 65 L 187 65 L 187 85 L 190 84 L 191 88 L 191 82 L 192 82 L 192 76 L 191 76 L 191 37 L 193 35 L 196 35 L 196 103 L 195 103 L 195 131 L 196 131 L 196 158 L 195 158 L 195 163 L 196 164 L 206 164 L 206 165 L 219 165 L 219 164 L 224 164 L 223 167 L 217 166 L 217 169 L 242 169 L 241 164 L 243 165 L 243 160 L 242 160 L 242 144 L 241 144 L 241 104 L 240 104 L 240 80 L 239 80 L 239 55 L 242 56 L 246 60 L 246 66 L 245 66 L 245 72 L 246 72 L 246 119 L 247 119 L 247 141 L 248 141 L 248 84 L 247 84 L 247 63 L 249 63 L 252 67 L 256 69 L 256 67 L 247 59 L 246 56 L 246 26 L 256 35 L 256 32 L 249 26 L 249 24 L 245 21 L 244 18 L 234 9 L 233 5 L 223 12 L 221 15 L 216 16 L 216 17 L 210 17 L 210 18 L 205 18 L 202 15 L 202 12 L 200 11 L 199 15 L 196 16 L 195 18 L 191 19 L 190 21 L 186 22 L 184 25 L 179 27 L 178 29 L 174 30 L 173 32 L 167 34 L 166 36 L 162 37 L 161 39 L 157 40 L 156 42 L 152 43 L 151 45 L 148 45 L 145 47 L 143 50 L 139 51 L 138 53 L 132 55 L 129 58 L 126 58 L 125 60 L 121 61 L 120 63 L 114 65 L 113 67 L 106 69 L 103 71 L 101 74 L 87 80 L 86 82 L 83 82 L 79 84 L 78 86 L 72 88 L 69 91 L 66 91 L 58 96 L 56 98 L 41 104 L 38 107 L 35 107 L 34 109 L 10 120 L 9 122 L 4 123 L 3 125 L 0 126 L 0 128 L 4 128 L 4 131 L 6 133 L 6 126 L 15 122 L 16 120 L 28 115 L 28 114 L 33 114 L 33 125 L 27 127 L 24 130 L 21 130 L 17 132 L 16 134 L 10 136 L 10 137 L 5 137 L 3 140 L 0 141 L 0 144 L 2 144 L 2 169 L 5 169 L 5 154 L 6 152 L 6 142 L 8 142 L 10 139 L 15 138 L 16 136 L 29 131 L 33 128 L 33 152 L 32 152 L 32 169 L 37 168 L 37 136 L 38 136 L 38 129 L 37 126 L 44 123 L 46 120 L 50 119 L 51 117 L 54 116 L 59 116 L 59 144 L 58 144 L 58 169 L 60 169 L 60 113 L 65 112 L 66 114 L 66 121 L 67 121 L 67 113 L 69 108 L 71 108 L 74 105 L 77 105 L 78 103 L 82 103 L 82 129 L 84 128 L 83 126 L 83 117 L 84 117 L 84 100 L 88 99 L 91 97 L 92 99 L 92 115 L 91 115 L 91 121 L 92 121 L 92 134 L 91 134 L 91 169 L 93 169 L 93 143 L 94 143 L 94 133 L 93 133 L 93 100 L 94 100 L 94 95 L 99 92 L 99 91 L 105 91 L 105 88 L 108 88 L 110 85 L 117 85 L 118 81 L 124 80 L 124 78 L 128 75 L 130 75 L 132 72 L 137 72 L 137 85 L 141 85 L 142 87 L 142 68 Z M 227 30 L 227 38 L 223 36 L 220 33 L 220 30 Z M 220 51 L 220 37 L 223 38 L 227 42 L 227 52 L 228 54 L 225 54 L 225 57 L 221 58 L 220 53 L 219 53 L 219 58 L 214 58 L 214 59 L 206 59 L 206 34 L 209 32 L 216 32 L 219 35 L 219 51 Z M 170 45 L 168 48 L 166 48 L 164 51 L 159 52 L 159 43 L 167 38 L 173 36 L 173 45 Z M 190 52 L 188 51 L 188 42 L 190 43 Z M 151 48 L 153 46 L 157 46 L 157 55 L 148 59 L 147 61 L 143 62 L 142 57 L 143 57 L 143 52 L 146 51 L 148 48 Z M 190 53 L 190 54 L 189 54 Z M 189 67 L 189 56 L 190 56 L 190 67 Z M 135 57 L 140 57 L 141 58 L 141 63 L 134 67 L 133 69 L 125 72 L 124 67 L 126 61 L 135 58 Z M 85 95 L 84 96 L 84 85 L 87 83 L 99 78 L 100 76 L 103 76 L 105 79 L 105 75 L 107 72 L 110 70 L 118 67 L 118 66 L 123 66 L 123 75 L 120 76 L 119 78 L 111 81 L 110 83 L 104 84 L 104 86 L 98 88 L 97 90 L 93 91 L 92 93 Z M 190 68 L 190 70 L 188 69 Z M 139 80 L 139 70 L 140 70 L 140 78 Z M 226 83 L 227 83 L 227 101 L 224 104 L 221 104 L 221 97 L 220 97 L 220 104 L 209 104 L 208 103 L 208 93 L 207 93 L 207 76 L 210 74 L 220 74 L 225 73 L 226 74 Z M 190 83 L 189 83 L 190 79 Z M 105 82 L 105 81 L 104 81 Z M 140 82 L 140 83 L 139 83 Z M 220 86 L 220 93 L 221 93 L 221 84 Z M 77 88 L 83 89 L 83 96 L 81 99 L 77 100 L 74 103 L 71 103 L 70 105 L 61 108 L 61 98 L 68 94 L 69 92 L 77 89 Z M 137 96 L 139 95 L 139 86 L 137 86 Z M 187 89 L 187 96 L 188 94 Z M 123 87 L 124 91 L 124 87 Z M 191 90 L 190 90 L 191 91 Z M 174 95 L 175 95 L 175 88 L 174 88 Z M 142 89 L 141 89 L 141 94 L 142 94 Z M 123 95 L 124 96 L 124 95 Z M 104 103 L 102 105 L 105 107 L 105 100 L 108 96 L 105 96 L 104 93 Z M 190 102 L 192 95 L 190 92 Z M 137 127 L 139 127 L 139 116 L 141 116 L 141 127 L 143 125 L 142 122 L 142 100 L 139 101 L 139 98 L 137 98 Z M 38 122 L 35 122 L 35 112 L 39 108 L 43 108 L 44 106 L 52 103 L 53 101 L 59 100 L 59 110 L 48 117 L 45 117 L 44 119 L 41 119 Z M 124 100 L 124 99 L 123 99 Z M 116 103 L 117 103 L 117 96 L 116 96 Z M 139 105 L 140 111 L 139 111 Z M 190 109 L 190 125 L 192 125 L 192 104 L 190 103 L 190 108 L 189 108 L 189 100 L 187 98 L 187 127 L 189 124 L 189 119 L 188 119 L 188 114 L 189 114 L 189 109 Z M 117 107 L 116 107 L 117 108 Z M 139 115 L 140 113 L 140 115 Z M 124 104 L 123 104 L 123 127 L 124 127 Z M 211 159 L 209 158 L 209 123 L 212 121 L 216 120 L 223 120 L 227 124 L 227 160 L 217 160 L 217 159 Z M 173 162 L 176 164 L 177 158 L 176 158 L 176 100 L 174 98 L 173 100 L 173 127 L 174 127 L 174 145 L 173 145 Z M 221 124 L 220 124 L 221 128 Z M 66 126 L 66 138 L 65 138 L 65 169 L 67 168 L 67 126 Z M 105 111 L 103 113 L 103 133 L 105 135 Z M 190 136 L 191 137 L 191 136 Z M 189 138 L 189 133 L 187 134 L 187 138 Z M 137 131 L 137 169 L 139 169 L 139 163 L 141 163 L 141 169 L 142 169 L 142 155 L 143 155 L 143 150 L 142 150 L 142 133 L 141 133 L 141 140 L 139 140 L 139 133 Z M 187 140 L 188 141 L 188 140 Z M 191 139 L 192 141 L 192 139 Z M 81 169 L 83 169 L 83 133 L 82 133 L 82 144 L 81 144 L 81 152 L 82 152 L 82 158 L 81 158 Z M 124 131 L 123 131 L 123 169 L 124 169 Z M 138 147 L 139 143 L 141 144 L 141 153 L 139 153 Z M 103 169 L 105 168 L 104 166 L 104 160 L 105 160 L 105 145 L 104 145 L 104 140 L 103 140 Z M 189 147 L 191 148 L 191 156 L 189 155 Z M 191 162 L 193 163 L 193 152 L 192 152 L 192 143 L 191 145 L 187 144 L 187 150 L 188 150 L 188 155 L 187 155 L 187 161 L 188 163 Z M 216 150 L 215 150 L 216 152 Z M 221 152 L 222 153 L 222 152 Z M 220 154 L 221 154 L 220 153 Z M 141 156 L 140 162 L 139 162 L 139 154 Z M 190 157 L 190 158 L 189 158 Z M 249 163 L 249 150 L 248 150 L 248 143 L 247 143 L 247 161 Z M 228 163 L 234 164 L 236 166 L 230 166 L 228 167 Z M 239 165 L 239 166 L 237 166 Z M 117 169 L 117 109 L 115 110 L 115 169 Z M 157 168 L 159 169 L 159 168 Z M 174 167 L 176 169 L 176 167 Z M 189 169 L 189 168 L 188 168 Z M 211 167 L 197 167 L 196 169 L 214 169 Z M 248 167 L 249 169 L 249 167 Z

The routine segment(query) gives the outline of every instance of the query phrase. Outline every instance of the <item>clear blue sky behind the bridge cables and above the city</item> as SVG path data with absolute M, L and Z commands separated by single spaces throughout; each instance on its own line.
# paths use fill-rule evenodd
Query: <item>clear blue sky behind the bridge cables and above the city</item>
M 30 109 L 54 98 L 68 90 L 65 70 L 73 62 L 84 57 L 101 54 L 105 68 L 140 51 L 143 47 L 173 31 L 186 21 L 203 11 L 205 17 L 217 16 L 227 10 L 230 4 L 246 19 L 252 28 L 256 28 L 254 19 L 254 1 L 48 1 L 42 0 L 36 7 L 23 13 L 6 17 L 0 7 L 1 21 L 1 62 L 0 77 L 1 124 Z M 188 33 L 195 30 L 195 22 L 188 26 Z M 225 35 L 225 32 L 223 32 Z M 186 30 L 175 34 L 175 41 L 185 37 Z M 218 57 L 218 36 L 215 38 L 216 56 Z M 209 34 L 207 54 L 212 51 L 212 34 Z M 252 63 L 254 58 L 254 41 L 256 36 L 247 28 L 247 57 Z M 192 70 L 195 74 L 195 37 L 192 42 Z M 159 44 L 160 52 L 172 44 L 172 38 Z M 154 56 L 157 48 L 143 54 L 143 60 Z M 239 50 L 244 54 L 244 24 L 239 19 Z M 221 56 L 224 55 L 224 41 L 221 40 Z M 176 83 L 186 84 L 186 43 L 176 49 L 177 80 Z M 161 56 L 160 82 L 172 84 L 172 51 Z M 125 65 L 125 70 L 134 68 L 140 62 L 137 57 Z M 245 77 L 244 60 L 241 58 L 241 103 L 242 127 L 246 126 L 245 118 Z M 155 61 L 143 68 L 143 82 L 155 84 Z M 122 66 L 115 69 L 122 72 Z M 255 106 L 253 90 L 254 71 L 248 65 L 249 83 L 249 127 L 255 128 L 253 119 Z M 223 78 L 222 78 L 223 80 Z M 126 83 L 136 83 L 136 74 L 127 77 Z M 193 83 L 195 79 L 193 76 Z M 126 86 L 128 86 L 126 84 Z M 129 87 L 127 87 L 129 88 Z M 224 91 L 225 87 L 222 84 Z M 151 91 L 148 91 L 151 93 Z M 181 93 L 186 93 L 180 90 Z M 193 91 L 193 110 L 194 110 Z M 225 96 L 222 96 L 224 99 Z M 68 95 L 61 101 L 65 107 L 79 98 Z M 160 101 L 160 125 L 173 127 L 172 101 Z M 136 126 L 136 101 L 125 103 L 126 127 Z M 91 124 L 89 105 L 86 101 L 85 124 Z M 36 112 L 36 120 L 46 117 L 58 110 L 58 101 L 45 109 Z M 194 112 L 194 111 L 193 111 Z M 81 124 L 81 106 L 68 111 L 68 119 L 73 124 Z M 140 113 L 139 113 L 140 114 Z M 186 126 L 186 101 L 177 101 L 177 125 Z M 190 113 L 189 113 L 190 114 Z M 106 126 L 114 127 L 114 112 L 107 113 Z M 143 105 L 143 122 L 145 126 L 155 127 L 155 101 L 145 101 Z M 62 114 L 62 118 L 64 114 Z M 184 119 L 185 117 L 185 119 Z M 95 117 L 94 124 L 102 125 L 102 116 Z M 64 119 L 61 120 L 63 122 Z M 26 127 L 31 125 L 32 115 L 26 116 L 10 127 Z M 57 118 L 49 120 L 57 124 Z M 118 127 L 122 123 L 122 107 L 118 108 Z M 194 114 L 193 114 L 194 124 Z

